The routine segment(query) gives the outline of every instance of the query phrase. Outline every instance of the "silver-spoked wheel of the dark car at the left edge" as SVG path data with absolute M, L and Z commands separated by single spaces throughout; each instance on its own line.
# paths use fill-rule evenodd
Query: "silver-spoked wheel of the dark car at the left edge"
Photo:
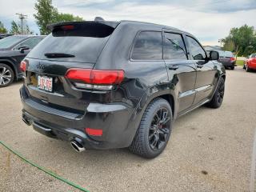
M 14 82 L 14 70 L 6 64 L 0 63 L 0 88 L 10 86 Z

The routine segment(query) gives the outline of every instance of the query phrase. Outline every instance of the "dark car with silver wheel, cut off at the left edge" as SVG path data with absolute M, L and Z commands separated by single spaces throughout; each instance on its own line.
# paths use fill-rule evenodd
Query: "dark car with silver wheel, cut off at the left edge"
M 0 88 L 22 78 L 19 64 L 44 36 L 13 35 L 0 40 Z

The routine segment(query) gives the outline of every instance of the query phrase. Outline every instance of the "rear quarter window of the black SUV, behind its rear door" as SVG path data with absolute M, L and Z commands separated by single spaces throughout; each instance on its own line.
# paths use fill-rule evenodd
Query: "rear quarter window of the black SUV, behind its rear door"
M 162 59 L 162 33 L 142 31 L 138 34 L 131 54 L 134 60 Z

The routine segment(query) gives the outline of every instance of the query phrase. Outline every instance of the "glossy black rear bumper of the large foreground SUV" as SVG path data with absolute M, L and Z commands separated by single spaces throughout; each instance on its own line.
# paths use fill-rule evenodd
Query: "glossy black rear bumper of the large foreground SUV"
M 102 150 L 130 146 L 134 129 L 129 128 L 133 109 L 124 103 L 90 103 L 84 114 L 63 111 L 31 98 L 26 87 L 20 89 L 23 121 L 51 138 L 82 141 L 86 149 Z M 85 128 L 101 129 L 102 136 L 86 134 Z

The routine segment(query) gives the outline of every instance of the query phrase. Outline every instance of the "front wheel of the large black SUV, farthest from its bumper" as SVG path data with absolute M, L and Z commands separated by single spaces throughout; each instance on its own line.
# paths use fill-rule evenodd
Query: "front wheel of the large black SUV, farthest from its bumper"
M 214 97 L 206 104 L 210 108 L 218 108 L 222 105 L 223 97 L 225 92 L 225 80 L 221 78 L 218 82 L 218 87 L 215 90 Z

